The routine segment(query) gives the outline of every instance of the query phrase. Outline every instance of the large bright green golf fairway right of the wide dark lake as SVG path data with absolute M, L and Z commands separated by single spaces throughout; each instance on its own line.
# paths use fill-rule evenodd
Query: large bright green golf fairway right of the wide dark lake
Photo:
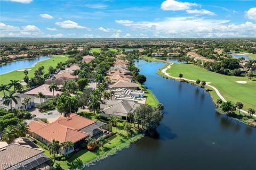
M 256 79 L 248 80 L 246 77 L 227 76 L 223 74 L 207 71 L 193 64 L 173 64 L 171 69 L 167 70 L 173 77 L 178 77 L 179 73 L 183 74 L 183 78 L 199 79 L 216 87 L 221 95 L 233 103 L 240 101 L 244 104 L 243 109 L 256 109 Z M 239 84 L 236 81 L 247 81 L 246 84 Z M 208 87 L 207 87 L 208 88 Z M 214 101 L 218 98 L 216 94 L 212 95 Z

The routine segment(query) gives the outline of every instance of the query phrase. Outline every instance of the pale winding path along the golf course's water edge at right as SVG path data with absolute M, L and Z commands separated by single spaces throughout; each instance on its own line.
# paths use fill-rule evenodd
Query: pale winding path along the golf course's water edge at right
M 171 76 L 169 73 L 166 72 L 167 69 L 171 69 L 171 65 L 173 65 L 174 63 L 169 62 L 169 61 L 159 60 L 159 59 L 156 59 L 155 57 L 153 57 L 153 59 L 154 59 L 154 60 L 158 60 L 158 61 L 162 61 L 162 62 L 168 64 L 166 68 L 163 69 L 163 67 L 162 67 L 162 68 L 161 68 L 162 70 L 160 69 L 160 70 L 161 70 L 161 73 L 163 73 L 164 75 L 166 75 L 166 76 L 169 77 L 169 78 L 173 78 L 173 79 L 180 80 L 180 78 L 173 77 L 173 76 Z M 158 74 L 158 73 L 157 73 L 157 74 Z M 158 74 L 158 75 L 159 75 L 159 74 Z M 196 82 L 196 80 L 191 80 L 191 79 L 186 79 L 186 78 L 183 78 L 183 80 L 187 80 L 187 81 L 190 81 L 190 82 Z M 211 88 L 216 92 L 216 94 L 218 95 L 218 97 L 219 97 L 222 101 L 227 102 L 227 100 L 220 94 L 220 91 L 219 91 L 217 88 L 215 88 L 214 86 L 210 85 L 210 83 L 211 83 L 211 82 L 206 82 L 206 86 L 211 87 Z M 237 108 L 236 108 L 236 109 L 237 109 Z M 238 109 L 237 109 L 237 110 L 238 110 Z M 243 113 L 249 114 L 248 112 L 244 111 L 243 109 L 240 109 L 240 111 L 243 112 Z M 256 117 L 256 115 L 252 115 L 252 116 Z

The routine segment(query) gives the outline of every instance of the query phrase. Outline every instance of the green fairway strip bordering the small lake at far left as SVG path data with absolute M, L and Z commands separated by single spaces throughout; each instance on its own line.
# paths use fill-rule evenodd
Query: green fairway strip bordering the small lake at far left
M 31 69 L 30 71 L 28 71 L 28 77 L 33 77 L 34 71 L 42 65 L 44 66 L 44 72 L 47 73 L 49 66 L 55 67 L 57 63 L 65 62 L 67 59 L 67 55 L 53 55 L 53 57 L 51 57 L 50 59 L 38 62 L 34 67 L 27 68 Z M 8 84 L 10 83 L 10 80 L 23 80 L 24 76 L 25 75 L 22 71 L 13 71 L 10 73 L 0 75 L 0 81 L 2 84 Z M 3 91 L 0 93 L 0 95 L 3 95 Z

